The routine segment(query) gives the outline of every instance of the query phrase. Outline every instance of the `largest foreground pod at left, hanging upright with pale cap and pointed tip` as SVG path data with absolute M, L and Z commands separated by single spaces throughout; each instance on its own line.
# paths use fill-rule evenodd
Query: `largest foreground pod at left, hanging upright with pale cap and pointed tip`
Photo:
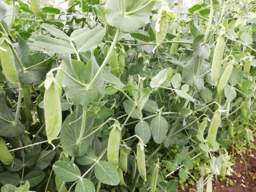
M 58 92 L 58 85 L 53 78 L 52 72 L 47 73 L 44 84 L 44 117 L 45 129 L 48 143 L 52 143 L 61 131 L 61 101 Z

